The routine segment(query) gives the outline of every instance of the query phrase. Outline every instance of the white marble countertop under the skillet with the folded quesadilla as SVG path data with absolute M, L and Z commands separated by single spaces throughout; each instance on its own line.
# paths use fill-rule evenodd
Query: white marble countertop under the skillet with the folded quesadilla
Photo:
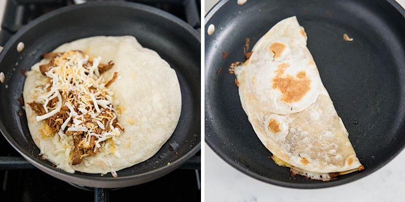
M 206 12 L 215 2 L 217 0 L 206 0 Z M 405 8 L 405 0 L 397 2 Z M 366 177 L 322 189 L 292 189 L 256 180 L 228 165 L 207 145 L 205 165 L 205 201 L 210 202 L 405 201 L 405 173 L 402 171 L 405 168 L 405 150 Z

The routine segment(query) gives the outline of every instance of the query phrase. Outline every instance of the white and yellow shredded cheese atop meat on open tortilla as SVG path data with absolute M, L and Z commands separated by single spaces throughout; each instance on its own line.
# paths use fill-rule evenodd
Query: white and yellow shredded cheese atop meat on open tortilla
M 54 137 L 53 141 L 59 141 L 64 145 L 55 150 L 55 155 L 63 154 L 66 158 L 70 158 L 73 138 L 72 133 L 67 131 L 83 132 L 84 138 L 77 146 L 90 147 L 92 137 L 96 137 L 95 152 L 104 145 L 102 142 L 105 140 L 111 139 L 112 149 L 115 148 L 115 144 L 119 144 L 115 137 L 120 131 L 114 125 L 118 124 L 115 119 L 120 113 L 113 107 L 113 92 L 105 87 L 107 82 L 100 76 L 98 68 L 101 60 L 101 57 L 92 58 L 78 51 L 65 52 L 56 57 L 52 68 L 45 72 L 50 79 L 49 83 L 41 83 L 35 88 L 38 91 L 35 102 L 41 103 L 46 112 L 36 116 L 36 121 L 51 118 L 63 107 L 65 111 L 66 107 L 69 109 L 68 118 L 64 118 L 66 120 L 63 121 L 59 117 L 55 120 L 62 125 L 56 135 L 58 138 Z M 56 106 L 48 106 L 54 98 L 58 99 Z M 52 100 L 53 104 L 54 101 Z M 121 108 L 118 112 L 124 110 L 125 108 Z M 50 136 L 46 129 L 42 129 L 41 133 L 43 137 Z M 113 150 L 113 154 L 120 158 L 120 154 Z

